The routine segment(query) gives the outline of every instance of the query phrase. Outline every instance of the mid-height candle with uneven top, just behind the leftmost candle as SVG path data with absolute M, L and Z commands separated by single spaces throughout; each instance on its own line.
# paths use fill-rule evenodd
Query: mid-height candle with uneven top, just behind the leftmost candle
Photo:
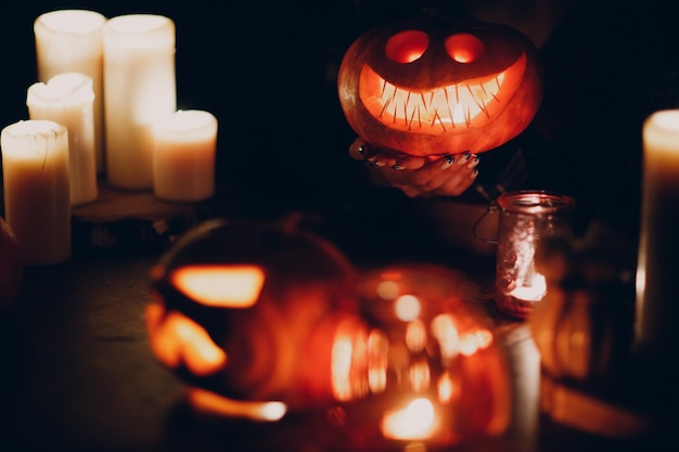
M 30 119 L 50 119 L 68 130 L 71 205 L 97 199 L 94 153 L 94 91 L 85 74 L 64 73 L 28 88 L 26 105 Z

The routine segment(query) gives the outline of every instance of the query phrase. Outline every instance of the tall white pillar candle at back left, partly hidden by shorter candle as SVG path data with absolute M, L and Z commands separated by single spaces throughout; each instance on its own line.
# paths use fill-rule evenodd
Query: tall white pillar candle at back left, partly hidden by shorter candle
M 106 17 L 94 11 L 57 10 L 34 23 L 38 80 L 47 82 L 61 73 L 92 78 L 94 91 L 94 153 L 97 172 L 105 171 L 102 28 Z

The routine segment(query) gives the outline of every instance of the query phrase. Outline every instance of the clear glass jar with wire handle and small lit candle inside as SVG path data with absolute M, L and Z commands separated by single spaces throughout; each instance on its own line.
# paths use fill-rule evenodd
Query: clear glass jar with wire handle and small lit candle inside
M 575 199 L 545 191 L 501 194 L 495 301 L 513 318 L 526 319 L 547 293 L 547 281 L 535 264 L 541 241 L 572 233 Z

